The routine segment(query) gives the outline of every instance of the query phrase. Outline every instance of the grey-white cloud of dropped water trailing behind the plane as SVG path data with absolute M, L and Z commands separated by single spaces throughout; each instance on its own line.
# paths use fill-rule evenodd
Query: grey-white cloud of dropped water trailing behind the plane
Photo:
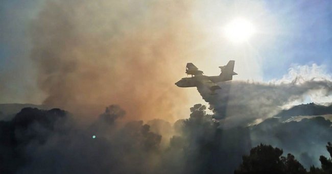
M 311 71 L 303 72 L 303 67 Z M 269 83 L 222 82 L 216 95 L 211 95 L 211 91 L 204 86 L 199 87 L 198 91 L 223 126 L 248 125 L 276 115 L 282 107 L 303 101 L 306 95 L 330 95 L 331 78 L 322 73 L 315 74 L 315 68 L 317 65 L 291 68 L 288 75 Z

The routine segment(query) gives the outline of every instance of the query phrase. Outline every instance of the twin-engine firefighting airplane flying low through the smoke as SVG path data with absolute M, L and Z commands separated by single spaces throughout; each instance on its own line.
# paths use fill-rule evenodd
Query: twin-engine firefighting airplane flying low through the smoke
M 205 76 L 203 75 L 203 71 L 198 70 L 198 68 L 193 63 L 187 63 L 185 73 L 192 75 L 189 78 L 182 78 L 178 82 L 175 83 L 176 86 L 187 88 L 187 87 L 207 87 L 211 93 L 216 94 L 215 91 L 221 89 L 216 83 L 230 81 L 233 79 L 234 75 L 237 75 L 234 72 L 234 60 L 230 60 L 227 65 L 219 66 L 221 69 L 221 73 L 219 76 Z

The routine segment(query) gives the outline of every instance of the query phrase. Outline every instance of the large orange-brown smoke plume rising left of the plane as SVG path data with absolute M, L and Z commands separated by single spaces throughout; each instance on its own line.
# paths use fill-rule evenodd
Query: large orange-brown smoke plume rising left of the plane
M 186 98 L 174 69 L 195 38 L 190 8 L 186 1 L 46 2 L 31 24 L 43 104 L 91 115 L 116 103 L 128 119 L 175 120 L 174 101 Z

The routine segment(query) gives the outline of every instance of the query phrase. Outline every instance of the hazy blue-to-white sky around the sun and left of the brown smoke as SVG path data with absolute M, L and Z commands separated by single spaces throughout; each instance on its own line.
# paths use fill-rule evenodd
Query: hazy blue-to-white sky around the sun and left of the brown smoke
M 38 104 L 46 96 L 37 85 L 29 34 L 31 20 L 44 3 L 5 0 L 0 4 L 0 103 Z M 190 10 L 195 31 L 189 32 L 197 32 L 200 41 L 195 40 L 187 57 L 180 56 L 186 57 L 181 64 L 191 61 L 213 75 L 231 58 L 239 73 L 234 79 L 256 81 L 280 79 L 294 65 L 316 63 L 332 71 L 331 1 L 202 1 L 193 3 Z M 256 29 L 245 43 L 232 43 L 223 34 L 223 28 L 238 17 Z M 181 73 L 179 78 L 185 75 L 184 66 L 175 69 Z M 200 100 L 199 94 L 195 97 Z

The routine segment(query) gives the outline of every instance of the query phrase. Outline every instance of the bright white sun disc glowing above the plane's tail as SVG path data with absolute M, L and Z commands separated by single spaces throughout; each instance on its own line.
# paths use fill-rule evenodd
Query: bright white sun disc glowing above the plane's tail
M 248 41 L 254 33 L 252 23 L 243 18 L 234 19 L 224 28 L 226 38 L 235 43 Z

